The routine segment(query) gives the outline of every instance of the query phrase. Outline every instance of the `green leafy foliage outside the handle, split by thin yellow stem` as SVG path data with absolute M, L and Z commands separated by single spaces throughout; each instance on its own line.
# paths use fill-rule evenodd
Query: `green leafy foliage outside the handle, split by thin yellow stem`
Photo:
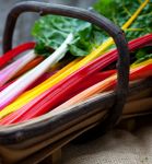
M 94 10 L 121 26 L 139 8 L 143 0 L 98 0 Z M 152 1 L 139 14 L 131 26 L 125 31 L 128 40 L 152 33 Z

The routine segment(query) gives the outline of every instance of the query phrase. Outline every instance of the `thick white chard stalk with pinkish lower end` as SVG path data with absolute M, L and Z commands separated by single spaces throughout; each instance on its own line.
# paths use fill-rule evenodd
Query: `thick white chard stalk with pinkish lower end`
M 22 75 L 14 83 L 9 85 L 5 90 L 0 92 L 0 109 L 4 108 L 19 95 L 21 95 L 35 80 L 45 73 L 49 67 L 57 63 L 68 50 L 68 45 L 72 42 L 73 34 L 69 34 L 62 45 L 52 52 L 47 59 L 40 62 L 37 67 L 32 69 L 26 74 Z

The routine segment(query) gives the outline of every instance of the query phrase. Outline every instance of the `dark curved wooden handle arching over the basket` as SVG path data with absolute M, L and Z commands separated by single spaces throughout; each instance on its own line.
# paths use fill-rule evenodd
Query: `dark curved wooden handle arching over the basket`
M 84 20 L 103 28 L 114 38 L 119 55 L 117 63 L 118 82 L 116 87 L 116 103 L 109 109 L 105 121 L 108 124 L 108 127 L 115 125 L 122 113 L 122 107 L 126 102 L 129 83 L 129 52 L 124 32 L 103 15 L 96 14 L 84 9 L 35 1 L 21 2 L 17 3 L 10 11 L 7 17 L 3 34 L 3 52 L 7 52 L 12 48 L 12 37 L 14 33 L 15 23 L 20 14 L 22 14 L 23 12 L 37 12 L 43 15 L 56 14 Z

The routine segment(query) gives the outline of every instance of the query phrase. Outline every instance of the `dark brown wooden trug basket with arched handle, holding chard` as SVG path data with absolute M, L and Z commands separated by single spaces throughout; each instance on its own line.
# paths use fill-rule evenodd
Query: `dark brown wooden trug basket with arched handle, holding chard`
M 147 79 L 129 85 L 129 52 L 125 35 L 119 27 L 106 17 L 87 10 L 40 2 L 22 2 L 16 4 L 8 15 L 3 36 L 3 52 L 12 48 L 15 23 L 23 12 L 77 17 L 89 21 L 106 31 L 114 38 L 119 52 L 118 82 L 116 91 L 98 94 L 71 106 L 58 116 L 51 117 L 46 114 L 23 124 L 1 127 L 0 154 L 2 163 L 57 163 L 61 155 L 61 148 L 82 133 L 81 139 L 86 141 L 114 127 L 120 116 L 127 118 L 143 115 L 145 109 L 144 114 L 149 114 L 148 109 L 152 106 L 152 81 Z M 139 106 L 143 107 L 140 113 L 136 113 Z M 131 113 L 132 108 L 133 113 Z M 121 115 L 122 110 L 128 109 L 130 109 L 129 115 Z

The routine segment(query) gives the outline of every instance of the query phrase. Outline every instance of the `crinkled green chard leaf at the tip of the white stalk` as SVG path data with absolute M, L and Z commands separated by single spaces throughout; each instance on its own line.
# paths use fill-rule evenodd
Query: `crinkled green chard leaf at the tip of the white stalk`
M 73 56 L 86 56 L 105 39 L 105 34 L 89 22 L 57 15 L 45 15 L 35 22 L 32 35 L 36 38 L 36 54 L 50 55 L 50 48 L 57 49 L 69 33 L 74 35 L 69 44 Z

